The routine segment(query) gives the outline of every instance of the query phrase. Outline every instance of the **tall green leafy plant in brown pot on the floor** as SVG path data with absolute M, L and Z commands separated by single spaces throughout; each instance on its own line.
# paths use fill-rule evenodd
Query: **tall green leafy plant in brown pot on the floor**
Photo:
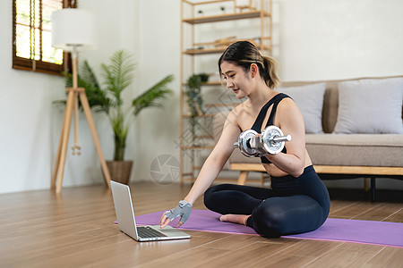
M 172 75 L 168 75 L 135 97 L 130 105 L 124 106 L 122 93 L 133 82 L 134 67 L 133 56 L 124 50 L 118 50 L 111 56 L 109 63 L 101 64 L 102 84 L 87 61 L 82 64 L 78 77 L 79 87 L 85 88 L 92 110 L 107 114 L 115 138 L 114 158 L 113 161 L 107 161 L 107 166 L 113 180 L 126 184 L 130 179 L 133 161 L 124 161 L 124 150 L 133 117 L 139 115 L 144 108 L 161 107 L 160 100 L 172 93 L 168 84 L 174 80 Z M 71 75 L 67 74 L 67 77 L 66 84 L 70 86 Z

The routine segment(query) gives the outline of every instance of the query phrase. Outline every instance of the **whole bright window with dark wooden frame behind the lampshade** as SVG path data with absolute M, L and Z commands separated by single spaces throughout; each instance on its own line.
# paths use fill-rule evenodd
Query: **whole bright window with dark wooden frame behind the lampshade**
M 52 47 L 51 13 L 76 7 L 74 0 L 13 0 L 13 68 L 60 74 L 68 54 Z

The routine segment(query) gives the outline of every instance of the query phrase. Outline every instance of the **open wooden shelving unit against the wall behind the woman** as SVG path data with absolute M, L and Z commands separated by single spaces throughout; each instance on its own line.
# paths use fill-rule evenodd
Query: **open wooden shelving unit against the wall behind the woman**
M 215 102 L 204 104 L 205 113 L 197 116 L 199 129 L 190 130 L 189 121 L 193 116 L 189 113 L 186 104 L 185 90 L 187 79 L 194 73 L 211 71 L 217 72 L 217 61 L 219 54 L 222 54 L 227 46 L 237 40 L 249 40 L 257 46 L 262 54 L 272 53 L 272 1 L 271 0 L 181 0 L 181 95 L 180 95 L 180 163 L 181 163 L 181 184 L 184 181 L 191 181 L 196 178 L 197 172 L 201 169 L 203 160 L 214 147 L 212 138 L 212 120 L 219 109 L 231 109 L 236 104 L 233 102 L 219 101 L 219 96 L 210 96 Z M 239 21 L 239 22 L 238 22 Z M 246 21 L 246 25 L 241 21 Z M 248 23 L 252 24 L 248 24 Z M 233 34 L 239 33 L 239 28 L 247 30 L 253 28 L 253 36 L 226 37 L 221 31 L 211 25 L 222 25 L 227 23 Z M 198 27 L 210 25 L 210 40 L 197 32 Z M 229 26 L 228 26 L 229 25 Z M 240 26 L 241 25 L 241 26 Z M 248 28 L 249 27 L 249 28 Z M 251 30 L 252 32 L 252 30 Z M 227 31 L 226 31 L 227 34 Z M 211 37 L 210 37 L 211 36 Z M 198 41 L 198 42 L 196 42 Z M 203 42 L 204 41 L 204 42 Z M 196 58 L 217 55 L 216 65 L 210 70 L 200 71 Z M 219 76 L 209 80 L 202 85 L 202 95 L 211 95 L 211 88 L 221 88 Z M 220 89 L 222 91 L 222 89 Z M 219 91 L 219 90 L 218 90 Z M 204 93 L 206 92 L 206 93 Z M 223 91 L 222 91 L 223 92 Z

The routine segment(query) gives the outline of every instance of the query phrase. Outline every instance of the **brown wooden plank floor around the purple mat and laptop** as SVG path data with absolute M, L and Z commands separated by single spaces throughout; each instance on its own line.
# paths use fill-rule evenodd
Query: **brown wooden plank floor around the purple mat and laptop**
M 189 186 L 131 185 L 136 214 L 166 210 Z M 401 191 L 330 190 L 330 217 L 403 222 Z M 205 208 L 199 200 L 194 208 Z M 136 242 L 120 232 L 104 186 L 0 195 L 1 267 L 403 267 L 403 248 L 187 231 L 192 239 Z M 376 231 L 376 230 L 374 230 Z

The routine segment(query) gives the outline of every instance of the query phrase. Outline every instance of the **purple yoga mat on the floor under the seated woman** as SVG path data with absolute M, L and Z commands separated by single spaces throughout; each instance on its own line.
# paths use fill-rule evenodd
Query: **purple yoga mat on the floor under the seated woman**
M 162 213 L 157 212 L 137 216 L 136 223 L 139 225 L 157 225 Z M 220 222 L 220 215 L 209 210 L 193 209 L 191 217 L 180 229 L 257 235 L 252 228 L 247 226 L 231 222 Z M 176 218 L 169 225 L 176 226 L 178 221 L 179 219 Z M 317 230 L 283 236 L 283 238 L 318 239 L 403 247 L 403 223 L 328 219 Z

